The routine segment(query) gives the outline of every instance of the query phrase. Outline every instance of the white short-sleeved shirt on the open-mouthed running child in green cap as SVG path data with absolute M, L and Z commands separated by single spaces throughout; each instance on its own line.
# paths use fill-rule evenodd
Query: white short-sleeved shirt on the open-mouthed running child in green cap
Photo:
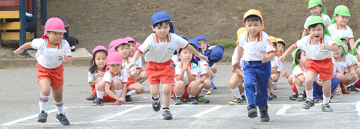
M 334 41 L 330 40 L 330 36 L 323 35 L 321 37 L 319 44 L 314 45 L 312 43 L 311 35 L 304 36 L 302 39 L 296 41 L 295 47 L 301 50 L 305 50 L 306 58 L 312 60 L 323 60 L 326 58 L 331 58 L 333 53 L 330 50 L 323 50 L 320 48 L 320 44 L 337 45 Z

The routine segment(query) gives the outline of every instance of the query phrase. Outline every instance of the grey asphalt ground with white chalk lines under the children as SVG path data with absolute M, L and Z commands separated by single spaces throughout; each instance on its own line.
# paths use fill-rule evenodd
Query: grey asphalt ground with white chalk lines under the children
M 230 63 L 219 63 L 214 84 L 217 89 L 205 95 L 210 103 L 174 105 L 170 103 L 172 120 L 162 120 L 162 112 L 151 107 L 147 81 L 145 91 L 133 95 L 134 103 L 93 107 L 85 97 L 91 94 L 87 83 L 88 66 L 64 68 L 64 112 L 70 121 L 62 126 L 55 120 L 56 109 L 50 95 L 48 121 L 38 123 L 40 87 L 33 68 L 0 70 L 0 128 L 360 128 L 360 92 L 334 95 L 330 105 L 333 112 L 322 112 L 321 103 L 309 110 L 301 108 L 303 102 L 291 101 L 294 93 L 284 77 L 280 77 L 278 97 L 269 101 L 269 122 L 260 117 L 247 117 L 247 104 L 230 105 L 233 94 L 229 88 L 232 75 Z M 291 62 L 283 70 L 291 72 Z

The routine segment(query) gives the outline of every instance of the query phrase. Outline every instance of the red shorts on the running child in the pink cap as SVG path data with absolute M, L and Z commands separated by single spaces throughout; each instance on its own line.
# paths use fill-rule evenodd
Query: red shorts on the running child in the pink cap
M 45 68 L 39 63 L 36 63 L 36 77 L 37 83 L 41 79 L 48 79 L 51 81 L 51 87 L 60 87 L 64 85 L 64 66 L 61 64 L 56 68 Z

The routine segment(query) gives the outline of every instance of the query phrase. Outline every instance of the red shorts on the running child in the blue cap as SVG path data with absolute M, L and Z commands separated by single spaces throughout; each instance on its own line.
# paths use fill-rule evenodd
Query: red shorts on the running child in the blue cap
M 172 60 L 165 63 L 148 62 L 145 67 L 145 74 L 148 77 L 150 85 L 174 83 L 175 68 L 170 64 Z

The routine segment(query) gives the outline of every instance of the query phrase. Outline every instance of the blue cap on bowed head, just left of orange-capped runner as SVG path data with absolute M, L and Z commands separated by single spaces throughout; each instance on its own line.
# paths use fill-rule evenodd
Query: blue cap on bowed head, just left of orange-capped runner
M 204 55 L 208 57 L 209 66 L 214 65 L 215 62 L 219 62 L 224 55 L 224 47 L 221 45 L 215 46 L 214 49 L 207 49 Z

